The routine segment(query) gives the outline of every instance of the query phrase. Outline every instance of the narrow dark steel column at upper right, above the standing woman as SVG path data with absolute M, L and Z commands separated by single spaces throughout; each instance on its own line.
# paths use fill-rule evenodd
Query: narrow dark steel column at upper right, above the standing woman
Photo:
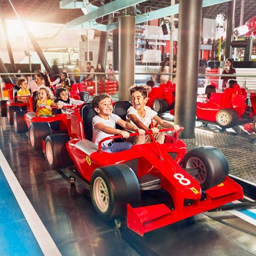
M 230 43 L 233 41 L 235 8 L 236 0 L 230 1 L 228 11 L 228 24 L 226 26 L 225 59 L 232 58 L 232 47 L 230 46 Z

